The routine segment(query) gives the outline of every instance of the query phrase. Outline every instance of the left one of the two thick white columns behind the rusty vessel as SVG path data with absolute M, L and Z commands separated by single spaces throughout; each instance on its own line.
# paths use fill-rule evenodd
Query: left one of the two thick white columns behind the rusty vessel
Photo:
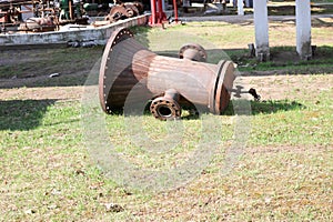
M 253 1 L 255 56 L 261 61 L 270 59 L 268 1 Z

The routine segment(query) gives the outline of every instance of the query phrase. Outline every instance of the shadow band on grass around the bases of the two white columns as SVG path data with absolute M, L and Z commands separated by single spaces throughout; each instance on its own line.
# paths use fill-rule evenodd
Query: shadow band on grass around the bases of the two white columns
M 317 74 L 332 73 L 333 47 L 313 47 L 313 57 L 301 60 L 295 47 L 270 48 L 270 61 L 259 62 L 251 57 L 249 50 L 225 50 L 231 60 L 238 63 L 243 75 L 282 75 L 282 74 Z

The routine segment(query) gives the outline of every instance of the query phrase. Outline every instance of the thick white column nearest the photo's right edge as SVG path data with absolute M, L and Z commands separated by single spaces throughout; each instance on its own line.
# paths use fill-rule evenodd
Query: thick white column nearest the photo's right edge
M 296 0 L 296 51 L 301 59 L 312 57 L 310 0 Z

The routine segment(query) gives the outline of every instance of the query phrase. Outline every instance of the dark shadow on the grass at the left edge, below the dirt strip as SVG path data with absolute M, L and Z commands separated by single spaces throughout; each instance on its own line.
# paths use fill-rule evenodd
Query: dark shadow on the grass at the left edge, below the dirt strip
M 41 124 L 49 105 L 57 100 L 0 101 L 0 131 L 32 130 Z

